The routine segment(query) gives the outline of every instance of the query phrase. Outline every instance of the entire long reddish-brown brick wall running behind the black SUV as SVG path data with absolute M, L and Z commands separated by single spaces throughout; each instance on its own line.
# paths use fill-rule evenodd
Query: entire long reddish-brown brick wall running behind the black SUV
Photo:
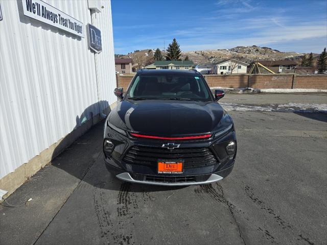
M 294 81 L 293 81 L 294 76 Z M 131 75 L 117 74 L 118 87 L 126 91 Z M 327 75 L 256 74 L 256 75 L 205 75 L 209 87 L 225 88 L 315 88 L 327 89 Z

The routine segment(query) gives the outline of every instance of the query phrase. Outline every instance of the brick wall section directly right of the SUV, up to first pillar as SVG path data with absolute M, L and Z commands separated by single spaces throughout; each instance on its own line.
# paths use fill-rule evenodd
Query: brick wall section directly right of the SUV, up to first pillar
M 206 75 L 209 87 L 246 88 L 248 75 Z

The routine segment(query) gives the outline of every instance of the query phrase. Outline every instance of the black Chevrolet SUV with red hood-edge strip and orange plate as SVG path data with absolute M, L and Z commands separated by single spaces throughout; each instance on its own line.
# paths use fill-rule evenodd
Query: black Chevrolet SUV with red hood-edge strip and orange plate
M 235 162 L 231 117 L 197 71 L 139 70 L 127 92 L 116 88 L 103 151 L 117 178 L 153 185 L 206 184 L 225 178 Z

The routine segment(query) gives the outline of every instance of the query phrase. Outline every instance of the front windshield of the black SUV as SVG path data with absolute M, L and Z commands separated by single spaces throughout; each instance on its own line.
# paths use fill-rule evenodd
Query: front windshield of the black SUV
M 137 76 L 127 99 L 211 101 L 205 81 L 198 76 Z

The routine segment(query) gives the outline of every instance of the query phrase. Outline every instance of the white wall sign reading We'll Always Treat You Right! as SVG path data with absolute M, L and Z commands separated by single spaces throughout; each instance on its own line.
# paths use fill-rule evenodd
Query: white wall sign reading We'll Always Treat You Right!
M 24 15 L 84 37 L 84 24 L 41 0 L 21 0 Z

